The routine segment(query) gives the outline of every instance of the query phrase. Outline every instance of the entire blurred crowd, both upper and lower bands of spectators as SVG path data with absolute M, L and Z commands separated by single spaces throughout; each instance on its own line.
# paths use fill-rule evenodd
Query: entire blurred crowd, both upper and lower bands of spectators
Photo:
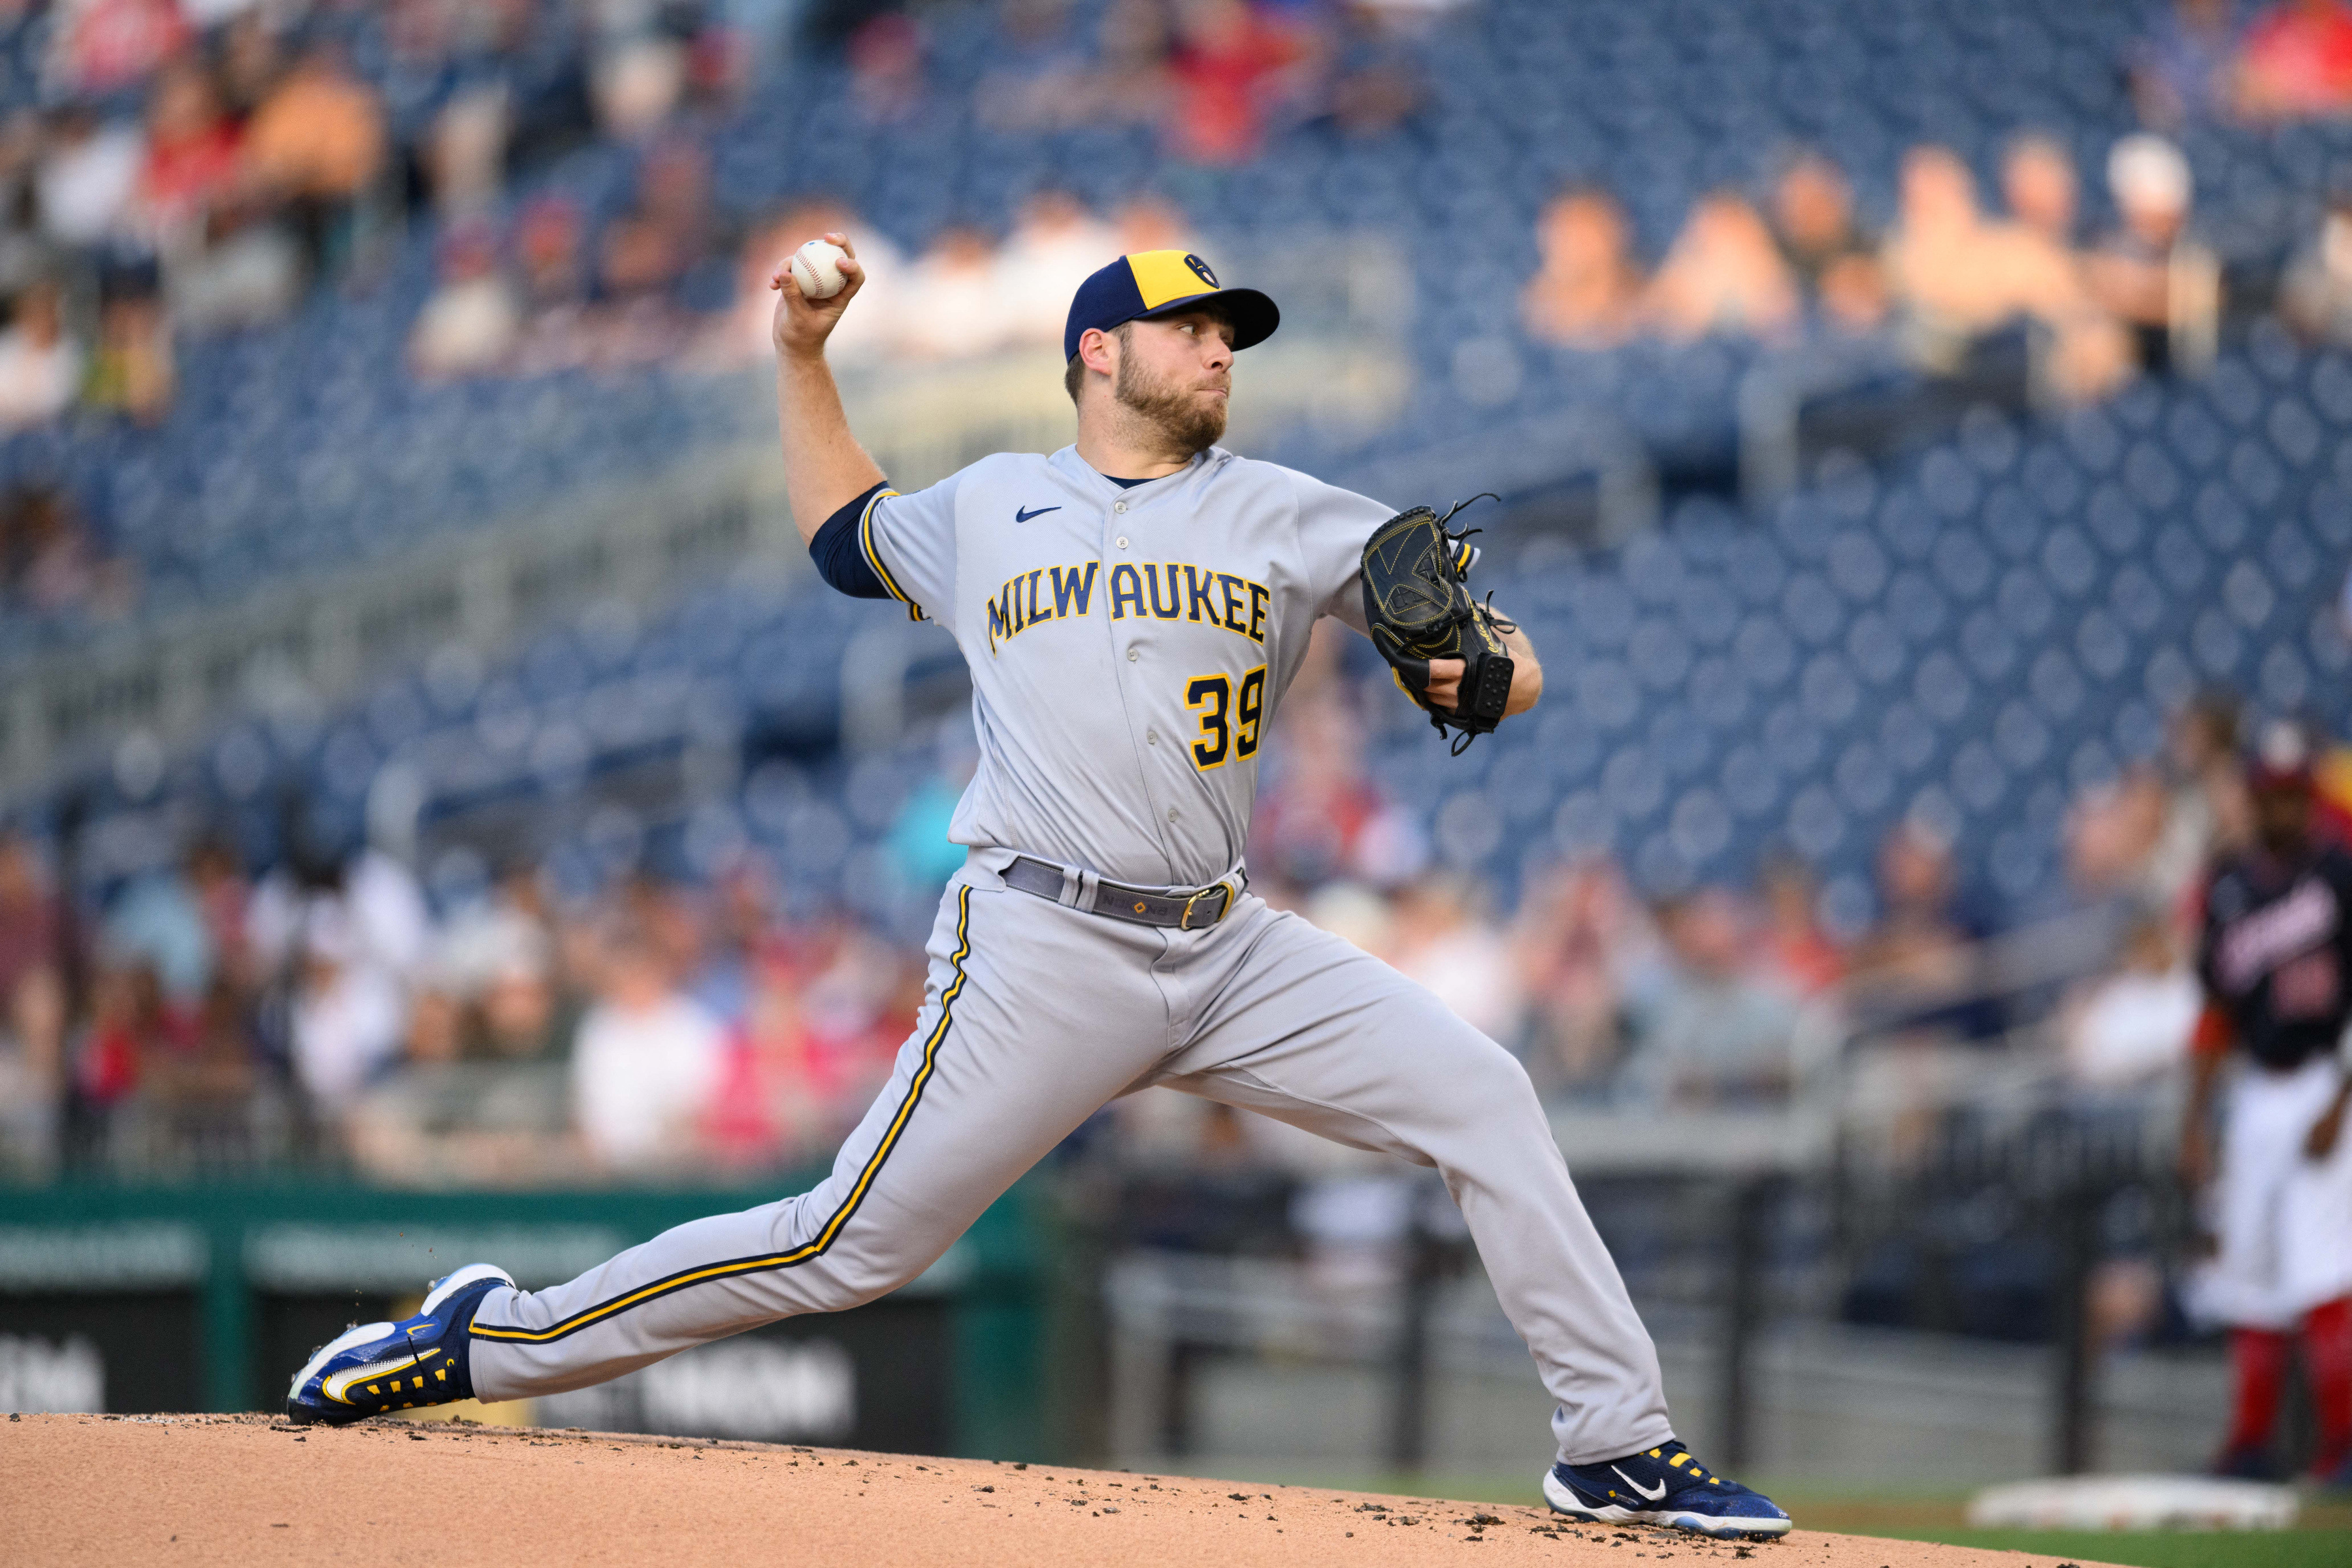
M 419 378 L 755 364 L 779 256 L 835 228 L 873 275 L 844 360 L 1044 350 L 1103 256 L 1195 242 L 1167 200 L 1094 212 L 1058 188 L 1002 214 L 1004 233 L 955 223 L 915 254 L 870 226 L 887 214 L 837 202 L 729 212 L 710 132 L 774 45 L 739 26 L 753 9 L 0 0 L 0 33 L 47 28 L 42 103 L 0 120 L 0 433 L 165 418 L 174 341 L 278 320 L 306 289 L 365 292 L 409 226 L 433 233 L 437 277 L 407 334 Z M 976 113 L 1007 132 L 1152 125 L 1211 169 L 1310 122 L 1378 136 L 1425 101 L 1416 40 L 1444 9 L 1112 0 L 1082 26 L 1056 0 L 1007 0 Z M 875 134 L 922 113 L 922 19 L 870 16 L 842 56 Z M 1698 200 L 1656 266 L 1609 190 L 1559 195 L 1524 324 L 1571 348 L 1898 331 L 1955 371 L 2025 324 L 2065 397 L 2194 360 L 2225 301 L 2164 132 L 2352 113 L 2352 7 L 2185 0 L 2126 68 L 2152 129 L 2105 162 L 2110 233 L 2084 235 L 2053 136 L 2006 148 L 1999 214 L 1959 155 L 1912 148 L 1884 233 L 1844 169 L 1790 153 L 1769 188 Z M 614 214 L 527 183 L 595 141 L 633 150 Z M 2352 195 L 2288 261 L 2277 308 L 2352 343 Z M 0 592 L 47 609 L 122 604 L 132 585 L 73 496 L 35 484 L 0 496 Z M 1369 780 L 1357 698 L 1324 670 L 1270 748 L 1251 867 L 1270 900 L 1510 1044 L 1550 1100 L 1595 1107 L 1780 1107 L 1799 1020 L 1832 1001 L 1910 1039 L 2002 1039 L 2011 1018 L 1973 985 L 1980 943 L 2089 914 L 2119 957 L 2037 1041 L 2072 1084 L 2129 1088 L 2185 1051 L 2185 905 L 2244 832 L 2234 731 L 2234 705 L 2201 698 L 2164 757 L 2074 799 L 2065 910 L 1990 907 L 1933 818 L 1886 839 L 1867 914 L 1825 912 L 1792 853 L 1755 886 L 1670 893 L 1595 853 L 1531 872 L 1498 910 L 1430 870 L 1428 823 Z M 2328 778 L 2352 795 L 2345 769 Z M 931 865 L 924 832 L 908 856 Z M 922 957 L 847 914 L 790 919 L 786 893 L 746 858 L 706 886 L 637 875 L 560 896 L 520 856 L 428 900 L 397 858 L 301 835 L 268 863 L 202 839 L 92 891 L 71 844 L 19 832 L 0 839 L 0 1147 L 35 1168 L 287 1157 L 447 1182 L 804 1164 L 889 1072 Z

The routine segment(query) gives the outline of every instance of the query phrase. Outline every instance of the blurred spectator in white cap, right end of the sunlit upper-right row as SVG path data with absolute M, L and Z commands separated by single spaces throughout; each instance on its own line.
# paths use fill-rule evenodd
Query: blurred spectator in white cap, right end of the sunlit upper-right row
M 2187 233 L 2187 158 L 2161 136 L 2124 136 L 2107 153 L 2107 188 L 2122 228 L 2091 256 L 2091 292 L 2131 331 L 2143 369 L 2204 364 L 2220 313 L 2220 263 Z

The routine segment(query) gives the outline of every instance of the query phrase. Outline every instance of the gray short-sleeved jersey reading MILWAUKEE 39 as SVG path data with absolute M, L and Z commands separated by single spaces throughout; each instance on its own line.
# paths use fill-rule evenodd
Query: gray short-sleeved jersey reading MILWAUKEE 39
M 1364 630 L 1390 510 L 1223 447 L 1131 489 L 1063 447 L 875 496 L 866 559 L 971 665 L 981 766 L 948 837 L 1115 882 L 1228 875 L 1308 632 Z

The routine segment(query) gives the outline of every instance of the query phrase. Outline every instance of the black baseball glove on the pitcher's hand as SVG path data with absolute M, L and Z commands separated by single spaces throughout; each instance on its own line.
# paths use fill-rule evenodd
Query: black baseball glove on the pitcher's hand
M 1477 501 L 1477 496 L 1470 496 Z M 1458 729 L 1454 755 L 1503 722 L 1510 701 L 1510 651 L 1503 632 L 1517 630 L 1470 597 L 1470 534 L 1449 534 L 1456 501 L 1439 517 L 1425 505 L 1397 512 L 1364 541 L 1364 623 L 1371 646 L 1397 672 L 1404 693 L 1421 703 L 1437 733 Z M 1463 661 L 1454 708 L 1430 705 L 1430 661 Z

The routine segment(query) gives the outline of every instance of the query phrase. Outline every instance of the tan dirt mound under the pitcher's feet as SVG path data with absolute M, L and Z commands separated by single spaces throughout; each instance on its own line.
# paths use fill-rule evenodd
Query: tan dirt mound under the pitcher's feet
M 12 1563 L 1486 1563 L 2034 1568 L 1797 1530 L 1755 1547 L 1526 1507 L 593 1432 L 263 1415 L 0 1422 Z M 2082 1568 L 2098 1568 L 2082 1563 Z

